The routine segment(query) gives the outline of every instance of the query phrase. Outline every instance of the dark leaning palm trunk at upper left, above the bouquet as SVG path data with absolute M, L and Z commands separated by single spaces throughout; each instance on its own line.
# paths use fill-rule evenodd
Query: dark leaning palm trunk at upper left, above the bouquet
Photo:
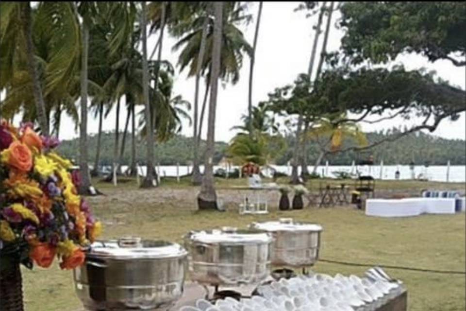
M 49 136 L 49 123 L 47 121 L 47 113 L 45 111 L 44 98 L 42 97 L 42 89 L 40 86 L 39 73 L 37 72 L 34 59 L 34 44 L 33 44 L 33 25 L 31 17 L 31 4 L 27 1 L 23 4 L 21 10 L 21 18 L 23 24 L 24 37 L 26 38 L 26 53 L 28 58 L 28 72 L 33 81 L 33 96 L 37 119 L 39 121 L 41 134 Z

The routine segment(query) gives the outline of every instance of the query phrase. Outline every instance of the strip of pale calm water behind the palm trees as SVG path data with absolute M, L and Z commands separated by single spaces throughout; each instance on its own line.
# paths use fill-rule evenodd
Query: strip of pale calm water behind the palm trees
M 290 174 L 291 173 L 291 167 L 288 167 L 286 165 L 283 166 L 277 166 L 277 165 L 272 165 L 274 169 L 276 169 L 278 172 L 285 173 L 285 174 Z M 125 170 L 127 167 L 122 166 L 123 170 Z M 214 171 L 218 168 L 223 168 L 225 169 L 224 166 L 215 166 Z M 177 167 L 176 166 L 160 166 L 156 168 L 157 171 L 160 169 L 160 175 L 161 176 L 170 176 L 174 177 L 177 176 Z M 308 167 L 309 172 L 312 172 L 314 167 L 309 166 Z M 145 175 L 146 173 L 146 167 L 140 167 L 139 168 L 140 173 Z M 200 167 L 200 171 L 203 172 L 204 168 L 203 166 Z M 233 170 L 233 168 L 230 168 L 230 170 Z M 409 165 L 387 165 L 383 166 L 382 168 L 379 165 L 373 165 L 373 166 L 333 166 L 329 165 L 326 167 L 325 165 L 319 166 L 317 169 L 317 173 L 319 173 L 321 176 L 329 177 L 329 178 L 334 178 L 333 172 L 338 172 L 338 171 L 345 171 L 348 173 L 356 173 L 356 170 L 359 171 L 362 175 L 372 175 L 377 179 L 382 179 L 384 180 L 389 180 L 389 179 L 395 179 L 395 172 L 398 170 L 399 171 L 399 179 L 412 179 L 413 175 L 415 178 L 418 178 L 420 175 L 425 176 L 427 179 L 431 181 L 447 181 L 447 166 L 429 166 L 429 167 L 424 167 L 424 166 L 415 166 L 414 171 L 411 171 L 409 168 Z M 300 171 L 300 170 L 299 170 Z M 191 167 L 188 166 L 179 166 L 178 167 L 178 173 L 180 176 L 186 175 L 187 173 L 191 172 Z M 267 172 L 265 172 L 267 173 Z M 450 182 L 466 182 L 466 166 L 464 165 L 452 165 L 450 166 L 449 169 L 449 181 Z

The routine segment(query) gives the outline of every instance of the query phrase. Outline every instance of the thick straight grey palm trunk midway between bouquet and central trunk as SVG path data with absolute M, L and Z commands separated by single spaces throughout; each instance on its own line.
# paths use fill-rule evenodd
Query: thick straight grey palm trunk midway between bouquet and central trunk
M 147 63 L 147 10 L 146 10 L 146 2 L 141 1 L 142 5 L 142 14 L 141 14 L 141 30 L 142 30 L 142 88 L 143 88 L 143 95 L 144 95 L 144 104 L 146 106 L 146 127 L 147 127 L 147 172 L 146 178 L 141 183 L 141 188 L 150 188 L 155 186 L 154 180 L 154 131 L 153 131 L 153 124 L 152 124 L 152 116 L 150 114 L 150 103 L 149 103 L 149 72 L 148 72 L 148 63 Z M 165 19 L 165 4 L 162 5 L 162 17 Z M 165 20 L 163 20 L 165 22 Z M 162 34 L 162 29 L 160 30 Z M 162 40 L 162 35 L 159 37 L 159 41 Z M 160 49 L 159 51 L 161 51 Z M 160 54 L 160 52 L 159 52 Z M 160 63 L 159 63 L 160 64 Z M 155 80 L 157 81 L 157 80 Z M 155 109 L 154 109 L 155 114 Z

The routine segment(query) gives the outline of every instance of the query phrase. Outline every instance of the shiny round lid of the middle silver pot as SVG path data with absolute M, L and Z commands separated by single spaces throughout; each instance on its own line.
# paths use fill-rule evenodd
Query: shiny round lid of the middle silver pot
M 187 235 L 191 241 L 200 243 L 258 244 L 270 243 L 270 234 L 255 229 L 223 227 L 221 230 L 192 231 Z

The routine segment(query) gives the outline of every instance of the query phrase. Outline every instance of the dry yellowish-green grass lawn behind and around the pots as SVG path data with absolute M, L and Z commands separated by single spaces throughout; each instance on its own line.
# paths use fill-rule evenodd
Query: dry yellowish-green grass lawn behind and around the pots
M 279 211 L 278 200 L 271 199 L 270 214 L 241 216 L 233 207 L 227 212 L 196 211 L 199 191 L 167 181 L 155 190 L 138 190 L 134 181 L 117 188 L 109 184 L 97 186 L 106 196 L 89 198 L 93 210 L 104 223 L 103 238 L 138 235 L 150 239 L 181 242 L 191 229 L 219 226 L 244 227 L 252 221 L 293 217 L 316 222 L 324 227 L 321 258 L 359 263 L 411 266 L 426 269 L 459 270 L 466 266 L 466 217 L 456 215 L 422 215 L 413 218 L 383 219 L 366 217 L 352 207 Z M 227 188 L 240 181 L 219 181 Z M 318 182 L 314 184 L 318 187 Z M 244 181 L 243 181 L 244 185 Z M 313 186 L 312 186 L 313 187 Z M 425 188 L 460 189 L 465 184 L 422 183 L 412 181 L 380 182 L 385 190 L 420 191 Z M 223 196 L 233 190 L 220 190 Z M 275 204 L 274 204 L 275 203 Z M 366 268 L 317 262 L 314 271 L 362 276 Z M 46 270 L 23 268 L 24 299 L 27 311 L 75 311 L 81 304 L 73 290 L 71 272 L 61 271 L 55 262 Z M 441 275 L 386 269 L 401 279 L 408 288 L 409 310 L 460 311 L 466 309 L 465 275 Z

